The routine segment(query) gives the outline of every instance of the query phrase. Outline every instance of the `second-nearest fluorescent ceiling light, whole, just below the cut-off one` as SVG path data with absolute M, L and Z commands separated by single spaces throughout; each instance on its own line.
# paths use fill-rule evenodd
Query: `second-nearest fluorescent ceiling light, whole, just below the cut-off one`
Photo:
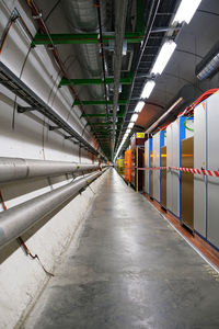
M 169 63 L 175 47 L 176 47 L 176 43 L 172 39 L 165 42 L 162 45 L 160 53 L 155 59 L 155 63 L 152 67 L 151 73 L 153 73 L 153 75 L 162 73 L 162 71 L 164 70 L 166 64 Z

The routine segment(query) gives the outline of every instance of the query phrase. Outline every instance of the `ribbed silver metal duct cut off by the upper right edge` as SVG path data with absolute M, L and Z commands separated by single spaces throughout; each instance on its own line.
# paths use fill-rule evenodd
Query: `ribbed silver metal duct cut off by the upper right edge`
M 211 78 L 219 71 L 219 42 L 208 52 L 208 54 L 198 63 L 195 73 L 199 80 Z

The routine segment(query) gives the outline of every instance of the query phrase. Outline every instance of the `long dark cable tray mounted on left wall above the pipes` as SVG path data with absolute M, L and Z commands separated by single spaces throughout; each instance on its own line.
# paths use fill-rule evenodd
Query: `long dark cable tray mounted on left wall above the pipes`
M 53 107 L 47 105 L 33 90 L 19 79 L 3 63 L 0 61 L 0 83 L 11 90 L 20 99 L 25 101 L 35 111 L 48 117 L 55 126 L 64 129 L 67 134 L 79 140 L 89 150 L 99 155 L 100 152 L 87 139 L 81 136 L 69 123 Z M 22 114 L 21 114 L 22 115 Z M 104 156 L 100 154 L 103 158 Z

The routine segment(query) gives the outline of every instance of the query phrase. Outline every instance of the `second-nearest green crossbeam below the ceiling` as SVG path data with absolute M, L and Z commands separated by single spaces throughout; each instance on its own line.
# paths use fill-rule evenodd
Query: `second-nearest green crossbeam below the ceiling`
M 131 84 L 131 77 L 122 78 L 120 84 Z M 65 79 L 62 78 L 59 82 L 61 86 L 89 86 L 89 84 L 103 84 L 103 79 Z M 114 83 L 114 78 L 106 78 L 106 84 Z

